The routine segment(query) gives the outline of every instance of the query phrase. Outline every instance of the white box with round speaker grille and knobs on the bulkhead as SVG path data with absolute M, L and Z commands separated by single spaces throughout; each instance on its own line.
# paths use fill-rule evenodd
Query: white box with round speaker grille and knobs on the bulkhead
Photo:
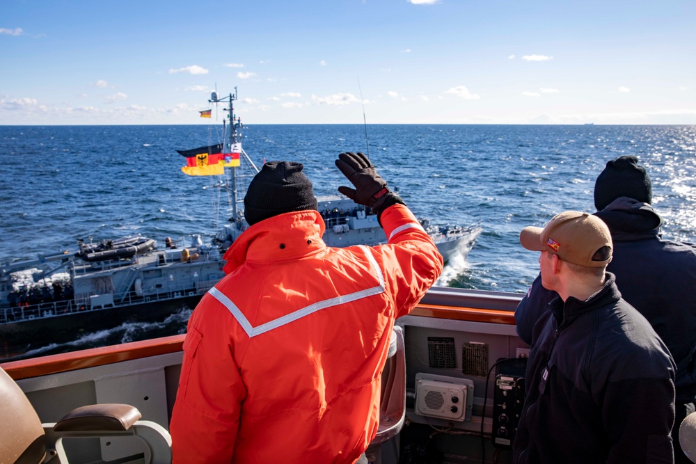
M 474 383 L 466 378 L 416 374 L 416 414 L 462 422 L 471 420 Z

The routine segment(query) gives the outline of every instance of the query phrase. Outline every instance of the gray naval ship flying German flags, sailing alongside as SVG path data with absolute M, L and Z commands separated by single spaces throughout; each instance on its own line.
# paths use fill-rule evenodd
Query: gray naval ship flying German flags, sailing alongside
M 242 149 L 242 122 L 232 109 L 235 93 L 211 103 L 228 103 L 225 143 L 180 151 L 189 166 L 225 163 L 229 171 L 232 216 L 212 243 L 200 236 L 162 243 L 146 237 L 79 241 L 79 248 L 23 262 L 0 263 L 0 360 L 21 359 L 33 349 L 74 340 L 81 330 L 95 332 L 124 322 L 157 322 L 196 306 L 224 273 L 223 255 L 248 227 L 237 204 L 238 182 L 258 168 Z M 227 138 L 227 137 L 226 137 Z M 193 158 L 193 160 L 191 160 Z M 221 166 L 212 166 L 215 169 Z M 207 169 L 208 166 L 205 166 Z M 186 168 L 182 168 L 184 172 Z M 241 179 L 241 180 L 240 180 Z M 240 185 L 241 186 L 241 185 Z M 370 209 L 349 198 L 318 198 L 328 246 L 374 246 L 386 235 Z M 479 225 L 434 225 L 421 221 L 445 261 L 465 258 L 481 233 Z

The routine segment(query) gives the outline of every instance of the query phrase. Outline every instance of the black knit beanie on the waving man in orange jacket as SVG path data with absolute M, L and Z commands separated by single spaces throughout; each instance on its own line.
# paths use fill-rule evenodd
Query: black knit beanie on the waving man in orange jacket
M 277 214 L 317 209 L 312 182 L 302 163 L 270 161 L 249 183 L 244 197 L 244 218 L 249 225 Z

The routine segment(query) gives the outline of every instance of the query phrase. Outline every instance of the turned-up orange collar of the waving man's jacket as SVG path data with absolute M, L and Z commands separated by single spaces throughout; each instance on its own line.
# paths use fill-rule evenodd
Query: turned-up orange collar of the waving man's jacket
M 306 210 L 278 214 L 255 223 L 232 243 L 223 259 L 231 273 L 244 262 L 298 259 L 326 248 L 322 240 L 326 226 L 319 211 Z

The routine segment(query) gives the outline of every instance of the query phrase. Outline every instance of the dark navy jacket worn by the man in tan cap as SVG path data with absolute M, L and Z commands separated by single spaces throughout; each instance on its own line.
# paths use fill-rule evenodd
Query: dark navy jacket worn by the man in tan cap
M 674 362 L 614 276 L 532 330 L 514 463 L 673 463 Z

